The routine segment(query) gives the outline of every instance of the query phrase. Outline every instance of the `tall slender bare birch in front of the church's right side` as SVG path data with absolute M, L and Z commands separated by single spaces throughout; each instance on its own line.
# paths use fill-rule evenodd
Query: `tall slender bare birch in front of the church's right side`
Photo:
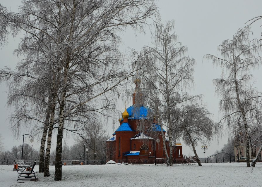
M 156 47 L 144 48 L 144 52 L 148 52 L 146 82 L 150 82 L 148 83 L 150 89 L 158 93 L 161 103 L 159 117 L 167 127 L 170 151 L 166 156 L 169 157 L 168 165 L 170 166 L 173 162 L 172 153 L 175 143 L 172 134 L 174 122 L 171 120 L 171 109 L 178 103 L 189 100 L 185 89 L 193 82 L 193 65 L 195 64 L 193 58 L 185 56 L 187 47 L 181 46 L 173 30 L 174 20 L 166 24 L 156 23 L 154 38 Z M 147 99 L 150 100 L 150 97 Z

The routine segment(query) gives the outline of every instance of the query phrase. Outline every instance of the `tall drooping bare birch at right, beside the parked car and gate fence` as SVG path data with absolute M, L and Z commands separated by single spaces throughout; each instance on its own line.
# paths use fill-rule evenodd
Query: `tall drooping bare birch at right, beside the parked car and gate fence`
M 246 143 L 246 165 L 249 163 L 249 124 L 247 116 L 249 112 L 257 109 L 257 91 L 251 86 L 252 75 L 251 68 L 258 67 L 261 64 L 261 57 L 258 51 L 261 45 L 257 39 L 249 39 L 249 30 L 239 29 L 234 34 L 233 39 L 222 41 L 218 46 L 218 51 L 222 57 L 206 55 L 205 57 L 213 60 L 214 65 L 222 68 L 222 75 L 219 79 L 214 79 L 216 93 L 220 94 L 220 111 L 224 112 L 223 120 L 226 120 L 228 127 L 231 127 L 232 119 L 242 118 L 241 126 L 244 128 Z

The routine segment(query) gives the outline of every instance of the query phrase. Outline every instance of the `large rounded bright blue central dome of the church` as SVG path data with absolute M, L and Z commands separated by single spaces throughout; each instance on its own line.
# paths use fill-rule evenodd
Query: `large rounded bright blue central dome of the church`
M 139 108 L 132 105 L 126 110 L 129 113 L 129 118 L 131 119 L 147 118 L 148 113 L 152 112 L 152 110 L 145 105 L 141 105 Z

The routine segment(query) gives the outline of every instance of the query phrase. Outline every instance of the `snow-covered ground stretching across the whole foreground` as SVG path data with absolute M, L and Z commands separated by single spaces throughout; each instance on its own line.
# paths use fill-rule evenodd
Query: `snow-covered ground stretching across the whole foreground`
M 37 173 L 38 181 L 16 182 L 18 173 L 13 167 L 0 165 L 0 186 L 262 186 L 262 163 L 255 168 L 245 163 L 208 163 L 181 165 L 76 165 L 63 166 L 63 180 L 54 181 L 54 166 L 50 177 Z M 38 171 L 38 166 L 35 167 Z

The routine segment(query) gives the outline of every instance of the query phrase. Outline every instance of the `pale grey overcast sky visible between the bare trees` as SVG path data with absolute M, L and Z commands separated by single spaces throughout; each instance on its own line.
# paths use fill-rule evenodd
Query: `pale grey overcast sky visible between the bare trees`
M 16 12 L 18 10 L 20 0 L 0 0 L 3 6 Z M 232 39 L 239 27 L 244 27 L 244 23 L 249 19 L 262 15 L 261 0 L 159 0 L 157 1 L 159 12 L 163 21 L 175 20 L 176 34 L 179 36 L 179 41 L 188 46 L 188 55 L 196 60 L 196 68 L 194 73 L 195 88 L 191 94 L 202 94 L 203 103 L 206 104 L 208 110 L 214 114 L 214 120 L 220 120 L 218 113 L 219 96 L 215 95 L 215 86 L 212 80 L 219 78 L 221 70 L 213 67 L 211 62 L 203 60 L 203 56 L 206 54 L 217 55 L 217 47 L 225 39 Z M 252 25 L 251 30 L 254 32 L 252 38 L 260 38 L 261 22 L 257 22 Z M 140 51 L 145 45 L 152 45 L 152 36 L 150 32 L 146 34 L 135 33 L 132 30 L 126 31 L 122 37 L 123 49 L 128 48 L 136 49 Z M 1 63 L 0 68 L 9 65 L 14 68 L 15 64 L 19 62 L 19 59 L 13 56 L 13 50 L 17 48 L 18 38 L 9 38 L 9 44 L 4 46 L 0 50 Z M 256 83 L 261 82 L 262 75 L 259 70 L 252 72 Z M 258 91 L 262 91 L 262 86 L 256 84 Z M 22 137 L 18 140 L 12 136 L 12 131 L 9 129 L 9 121 L 7 119 L 12 109 L 6 107 L 7 101 L 7 89 L 5 85 L 0 87 L 0 123 L 6 150 L 10 150 L 12 146 L 22 143 Z M 127 105 L 131 105 L 131 100 Z M 119 103 L 119 110 L 124 106 L 124 103 Z M 112 134 L 112 128 L 107 126 L 109 134 Z M 25 130 L 24 130 L 25 131 Z M 25 131 L 27 132 L 27 131 Z M 23 133 L 23 131 L 21 131 Z M 209 149 L 206 151 L 206 155 L 211 155 L 215 150 L 220 150 L 224 143 L 227 143 L 228 136 L 226 135 L 219 139 L 219 145 L 217 140 L 211 143 Z M 38 148 L 39 143 L 37 140 L 34 142 L 34 147 Z M 200 157 L 204 157 L 201 145 L 197 148 Z M 193 151 L 186 146 L 183 146 L 183 154 L 193 155 Z

